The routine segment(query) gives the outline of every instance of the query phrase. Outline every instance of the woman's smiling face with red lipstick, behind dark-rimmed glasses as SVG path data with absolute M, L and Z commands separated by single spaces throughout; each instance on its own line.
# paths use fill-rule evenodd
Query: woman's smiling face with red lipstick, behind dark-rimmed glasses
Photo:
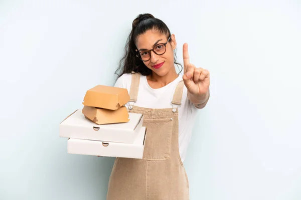
M 138 51 L 153 49 L 156 44 L 165 43 L 170 35 L 160 33 L 158 30 L 147 30 L 140 34 L 136 39 L 136 47 Z M 166 75 L 171 69 L 174 69 L 174 49 L 176 48 L 176 38 L 172 34 L 171 40 L 166 44 L 166 51 L 162 55 L 157 55 L 154 51 L 150 51 L 150 59 L 143 61 L 145 66 L 153 70 L 159 76 Z

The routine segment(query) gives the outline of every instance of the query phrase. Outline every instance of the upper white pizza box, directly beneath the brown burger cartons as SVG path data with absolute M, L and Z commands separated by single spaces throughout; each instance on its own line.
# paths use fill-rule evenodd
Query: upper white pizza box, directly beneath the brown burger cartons
M 98 125 L 78 109 L 59 125 L 60 137 L 132 143 L 142 127 L 143 115 L 128 113 L 129 121 Z

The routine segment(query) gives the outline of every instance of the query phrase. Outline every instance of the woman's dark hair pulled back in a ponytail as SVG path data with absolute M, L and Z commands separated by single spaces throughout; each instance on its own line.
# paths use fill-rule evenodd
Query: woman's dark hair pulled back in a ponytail
M 144 65 L 143 61 L 136 56 L 137 52 L 135 51 L 135 39 L 137 36 L 150 29 L 159 30 L 162 34 L 166 34 L 167 37 L 171 35 L 171 31 L 162 20 L 155 18 L 149 13 L 139 14 L 132 22 L 132 29 L 126 41 L 124 56 L 120 60 L 119 67 L 115 71 L 115 74 L 117 74 L 118 77 L 124 73 L 131 73 L 132 71 L 139 72 L 142 75 L 152 74 L 152 70 Z M 176 60 L 176 50 L 174 54 L 174 63 L 180 65 L 183 69 L 183 66 Z M 121 73 L 118 74 L 118 71 L 121 71 Z

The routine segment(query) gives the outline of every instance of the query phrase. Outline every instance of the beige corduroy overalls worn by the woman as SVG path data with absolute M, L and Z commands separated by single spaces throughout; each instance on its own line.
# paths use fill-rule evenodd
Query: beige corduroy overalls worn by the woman
M 133 73 L 130 102 L 137 99 L 140 74 Z M 183 81 L 180 81 L 172 104 L 181 105 Z M 189 199 L 186 171 L 179 154 L 179 121 L 177 108 L 152 109 L 135 105 L 129 112 L 144 115 L 147 127 L 142 159 L 115 159 L 109 179 L 107 200 Z

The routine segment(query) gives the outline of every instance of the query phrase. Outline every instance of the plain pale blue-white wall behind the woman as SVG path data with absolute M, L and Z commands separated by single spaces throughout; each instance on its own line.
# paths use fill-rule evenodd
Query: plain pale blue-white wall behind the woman
M 59 123 L 113 85 L 132 20 L 211 74 L 184 164 L 192 200 L 301 199 L 299 0 L 1 0 L 0 199 L 105 199 L 114 158 L 67 154 Z

